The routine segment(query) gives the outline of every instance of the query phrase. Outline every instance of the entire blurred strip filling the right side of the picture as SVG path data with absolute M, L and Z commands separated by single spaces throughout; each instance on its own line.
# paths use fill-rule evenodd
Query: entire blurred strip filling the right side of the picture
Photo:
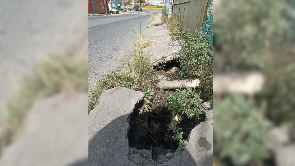
M 214 165 L 295 165 L 295 1 L 214 4 Z

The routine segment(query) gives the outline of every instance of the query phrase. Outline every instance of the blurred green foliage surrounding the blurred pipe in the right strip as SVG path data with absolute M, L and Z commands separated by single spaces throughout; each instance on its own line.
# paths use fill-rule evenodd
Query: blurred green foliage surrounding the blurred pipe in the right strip
M 214 58 L 214 68 L 224 73 L 228 71 L 260 71 L 268 81 L 264 85 L 262 93 L 257 95 L 255 99 L 257 102 L 266 102 L 264 115 L 276 125 L 294 128 L 294 28 L 290 28 L 290 24 L 294 25 L 295 17 L 294 3 L 292 5 L 290 2 L 276 0 L 222 1 L 217 8 L 214 8 L 214 12 L 218 13 L 214 16 L 214 53 L 217 54 L 216 59 Z M 293 35 L 291 35 L 292 31 Z M 290 43 L 290 38 L 293 38 L 292 43 Z M 224 119 L 224 115 L 234 116 L 229 112 L 229 108 L 237 107 L 234 101 L 233 99 L 228 101 L 227 107 L 224 106 L 222 112 L 214 112 L 214 116 L 215 113 L 218 113 L 222 117 L 220 120 L 217 118 L 219 123 L 228 123 L 228 120 Z M 242 128 L 242 125 L 245 127 L 257 126 L 253 131 L 249 129 L 246 136 L 251 135 L 252 132 L 253 134 L 257 133 L 257 130 L 264 127 L 263 124 L 266 120 L 260 117 L 262 116 L 260 115 L 261 111 L 252 110 L 257 109 L 256 107 L 254 105 L 248 106 L 251 110 L 248 111 L 248 114 L 259 114 L 259 118 L 254 115 L 246 115 L 246 113 L 235 113 L 235 119 L 239 120 L 239 123 L 236 122 L 239 128 Z M 215 109 L 217 108 L 215 107 Z M 246 108 L 245 110 L 243 108 L 243 111 L 246 112 Z M 251 118 L 256 121 L 249 122 Z M 226 131 L 226 128 L 223 127 L 221 132 Z M 249 139 L 253 143 L 247 141 L 247 144 L 244 144 L 242 141 L 235 141 L 235 145 L 239 148 L 234 149 L 233 145 L 228 144 L 233 140 L 234 135 L 228 136 L 228 138 L 222 134 L 216 135 L 215 130 L 217 131 L 217 129 L 214 126 L 214 140 L 219 140 L 219 149 L 215 150 L 215 141 L 214 155 L 221 159 L 227 156 L 235 162 L 242 156 L 242 152 L 250 156 L 249 160 L 261 162 L 265 159 L 260 154 L 254 156 L 260 149 L 266 149 L 264 140 L 261 141 L 260 138 L 256 140 L 252 136 Z M 234 131 L 232 126 L 229 129 L 231 132 Z M 265 136 L 265 134 L 267 133 L 264 132 L 261 136 Z M 241 147 L 243 144 L 248 147 Z M 249 144 L 256 144 L 253 151 L 249 149 Z M 243 150 L 241 150 L 242 148 Z

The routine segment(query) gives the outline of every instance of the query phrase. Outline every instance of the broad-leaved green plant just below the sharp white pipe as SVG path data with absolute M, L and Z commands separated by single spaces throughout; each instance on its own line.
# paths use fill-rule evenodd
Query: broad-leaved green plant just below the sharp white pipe
M 173 111 L 173 114 L 185 114 L 188 118 L 200 118 L 199 115 L 204 113 L 201 111 L 201 107 L 205 107 L 201 103 L 204 101 L 200 99 L 199 95 L 195 89 L 192 90 L 190 87 L 183 90 L 176 89 L 174 96 L 167 97 L 169 109 Z

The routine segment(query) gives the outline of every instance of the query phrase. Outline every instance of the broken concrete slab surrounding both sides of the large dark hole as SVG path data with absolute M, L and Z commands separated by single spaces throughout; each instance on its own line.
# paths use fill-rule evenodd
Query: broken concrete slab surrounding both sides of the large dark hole
M 183 153 L 168 149 L 155 161 L 151 150 L 130 147 L 130 114 L 138 109 L 143 96 L 140 91 L 121 87 L 101 94 L 99 104 L 89 114 L 89 165 L 213 165 L 213 109 L 205 110 L 207 119 L 191 131 Z

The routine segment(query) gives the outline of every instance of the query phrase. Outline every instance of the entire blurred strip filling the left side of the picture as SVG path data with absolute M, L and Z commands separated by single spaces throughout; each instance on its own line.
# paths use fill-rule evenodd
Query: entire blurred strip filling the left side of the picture
M 87 165 L 87 3 L 0 2 L 0 165 Z

